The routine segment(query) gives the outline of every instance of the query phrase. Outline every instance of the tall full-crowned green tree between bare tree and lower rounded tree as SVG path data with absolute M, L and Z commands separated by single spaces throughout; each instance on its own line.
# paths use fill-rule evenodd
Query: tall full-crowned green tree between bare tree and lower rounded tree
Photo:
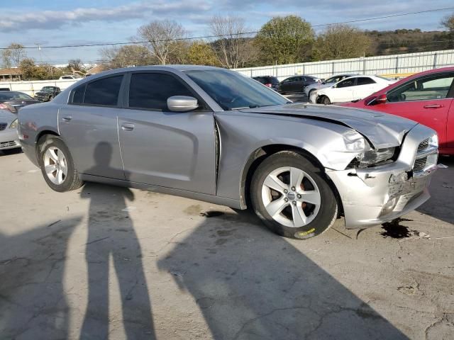
M 260 28 L 255 45 L 264 64 L 303 62 L 314 42 L 311 24 L 299 16 L 277 16 Z

